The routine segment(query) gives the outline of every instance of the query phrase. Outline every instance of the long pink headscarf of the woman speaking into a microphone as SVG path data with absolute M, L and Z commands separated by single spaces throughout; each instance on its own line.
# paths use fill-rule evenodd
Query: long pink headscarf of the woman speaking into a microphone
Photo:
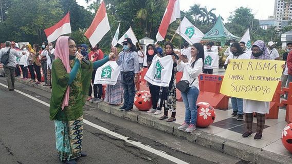
M 54 55 L 56 58 L 60 58 L 62 60 L 62 63 L 67 71 L 67 73 L 71 72 L 71 67 L 69 63 L 69 36 L 60 36 L 56 43 L 56 49 L 54 51 Z M 65 97 L 62 103 L 62 110 L 64 107 L 69 105 L 69 93 L 70 93 L 70 87 L 68 86 Z

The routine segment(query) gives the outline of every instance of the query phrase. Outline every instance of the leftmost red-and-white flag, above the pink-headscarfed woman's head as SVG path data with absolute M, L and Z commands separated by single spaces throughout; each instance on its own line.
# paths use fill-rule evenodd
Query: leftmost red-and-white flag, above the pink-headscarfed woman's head
M 71 33 L 70 13 L 68 12 L 60 22 L 50 28 L 44 30 L 47 35 L 48 42 L 54 42 L 59 36 Z

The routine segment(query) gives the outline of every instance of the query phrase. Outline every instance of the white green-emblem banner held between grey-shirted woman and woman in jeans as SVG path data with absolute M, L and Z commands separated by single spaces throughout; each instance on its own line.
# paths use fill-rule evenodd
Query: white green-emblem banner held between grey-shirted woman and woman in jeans
M 173 68 L 173 59 L 171 55 L 158 57 L 155 55 L 152 65 L 148 69 L 144 79 L 152 85 L 168 87 Z

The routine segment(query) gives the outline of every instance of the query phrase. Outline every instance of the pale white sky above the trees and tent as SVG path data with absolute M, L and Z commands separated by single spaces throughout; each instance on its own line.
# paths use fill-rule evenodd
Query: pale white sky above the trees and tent
M 94 0 L 91 0 L 92 2 Z M 159 1 L 159 0 L 157 0 Z M 77 0 L 81 6 L 87 6 L 85 0 Z M 200 4 L 201 7 L 207 7 L 208 10 L 215 8 L 214 13 L 221 15 L 225 20 L 239 7 L 249 7 L 257 19 L 267 19 L 268 16 L 273 15 L 275 0 L 180 0 L 180 10 L 188 11 L 190 6 Z M 90 3 L 89 3 L 90 4 Z M 164 9 L 163 9 L 164 10 Z

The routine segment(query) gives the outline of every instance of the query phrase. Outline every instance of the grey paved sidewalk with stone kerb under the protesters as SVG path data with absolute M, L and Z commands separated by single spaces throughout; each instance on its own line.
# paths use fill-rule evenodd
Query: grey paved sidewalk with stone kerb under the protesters
M 216 70 L 216 74 L 224 74 L 224 72 L 221 69 Z M 16 80 L 50 92 L 49 87 L 45 87 L 43 84 L 34 85 L 28 83 L 28 81 L 22 81 L 20 78 L 16 78 Z M 255 133 L 248 138 L 241 136 L 245 131 L 245 121 L 238 121 L 236 118 L 231 117 L 232 109 L 230 101 L 228 110 L 216 110 L 216 118 L 211 126 L 197 128 L 197 130 L 190 134 L 177 129 L 184 122 L 185 117 L 185 107 L 182 102 L 177 102 L 177 120 L 171 123 L 159 120 L 158 117 L 160 115 L 138 111 L 136 107 L 134 107 L 132 112 L 125 113 L 120 111 L 118 106 L 106 105 L 105 103 L 94 104 L 86 102 L 86 105 L 177 137 L 186 138 L 198 145 L 233 155 L 252 163 L 292 162 L 292 154 L 283 147 L 280 139 L 281 132 L 286 126 L 285 110 L 282 109 L 279 110 L 279 119 L 266 120 L 263 138 L 261 140 L 254 140 L 253 136 Z M 253 122 L 253 128 L 256 128 L 256 119 Z

